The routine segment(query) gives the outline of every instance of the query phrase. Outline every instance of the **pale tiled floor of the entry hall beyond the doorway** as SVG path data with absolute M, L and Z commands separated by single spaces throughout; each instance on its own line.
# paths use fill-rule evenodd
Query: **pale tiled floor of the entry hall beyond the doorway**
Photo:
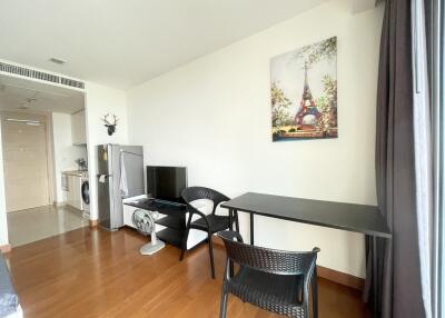
M 88 225 L 81 211 L 69 207 L 44 206 L 7 213 L 12 247 L 60 235 Z

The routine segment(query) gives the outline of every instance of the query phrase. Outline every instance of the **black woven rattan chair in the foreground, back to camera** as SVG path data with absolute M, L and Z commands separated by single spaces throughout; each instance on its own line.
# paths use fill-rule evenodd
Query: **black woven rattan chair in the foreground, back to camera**
M 228 294 L 268 311 L 309 317 L 310 285 L 313 317 L 318 317 L 316 260 L 319 248 L 304 252 L 275 250 L 246 245 L 235 231 L 221 231 L 218 236 L 227 250 L 219 317 L 226 317 Z M 234 276 L 230 276 L 231 262 L 239 265 Z

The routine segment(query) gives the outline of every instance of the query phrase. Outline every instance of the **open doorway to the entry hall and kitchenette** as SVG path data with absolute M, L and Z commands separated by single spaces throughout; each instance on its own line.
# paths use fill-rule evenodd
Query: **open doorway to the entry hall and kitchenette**
M 0 74 L 0 126 L 11 246 L 88 226 L 83 91 Z

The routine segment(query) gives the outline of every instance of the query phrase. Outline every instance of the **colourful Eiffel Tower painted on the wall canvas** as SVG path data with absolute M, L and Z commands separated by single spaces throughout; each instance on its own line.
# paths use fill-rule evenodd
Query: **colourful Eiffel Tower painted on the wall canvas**
M 301 101 L 297 113 L 295 115 L 295 126 L 300 130 L 316 129 L 320 112 L 310 92 L 309 82 L 307 80 L 308 66 L 305 63 L 305 86 L 303 89 Z

